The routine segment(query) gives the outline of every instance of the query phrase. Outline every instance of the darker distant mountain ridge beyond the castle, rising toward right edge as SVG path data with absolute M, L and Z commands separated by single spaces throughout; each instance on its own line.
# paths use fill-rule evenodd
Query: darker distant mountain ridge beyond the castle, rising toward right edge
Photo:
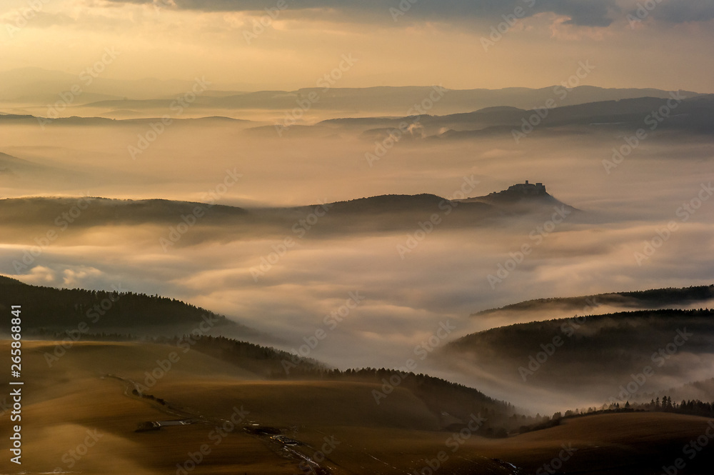
M 243 95 L 241 95 L 243 97 Z M 283 96 L 281 96 L 282 98 Z M 445 96 L 446 97 L 446 96 Z M 211 101 L 218 97 L 211 96 Z M 292 99 L 291 99 L 292 100 Z M 129 101 L 131 102 L 131 101 Z M 167 106 L 166 101 L 152 101 L 153 106 Z M 322 100 L 317 104 L 322 104 Z M 405 102 L 403 104 L 410 104 Z M 289 111 L 295 107 L 293 102 L 283 104 Z M 107 105 L 108 106 L 108 105 Z M 136 104 L 118 104 L 116 111 L 126 115 L 128 109 L 141 110 Z M 148 106 L 147 106 L 148 107 Z M 208 108 L 208 109 L 206 109 Z M 174 119 L 176 124 L 188 126 L 191 124 L 216 124 L 235 126 L 237 130 L 256 138 L 274 139 L 278 136 L 274 124 L 252 122 L 243 119 L 231 119 L 221 115 L 216 116 L 218 106 L 206 105 L 203 111 L 210 111 L 211 116 L 202 119 Z M 147 114 L 152 114 L 151 109 Z M 227 110 L 227 109 L 226 109 Z M 608 99 L 582 104 L 566 104 L 558 102 L 554 106 L 535 103 L 524 108 L 513 106 L 473 107 L 468 111 L 436 115 L 442 111 L 436 107 L 429 111 L 402 107 L 396 114 L 383 114 L 383 111 L 364 112 L 359 109 L 329 109 L 336 114 L 351 117 L 327 119 L 316 124 L 294 124 L 280 130 L 282 138 L 313 137 L 322 139 L 340 138 L 343 134 L 358 136 L 365 141 L 385 141 L 408 139 L 427 139 L 430 141 L 481 139 L 494 136 L 511 136 L 517 143 L 535 132 L 538 134 L 570 133 L 582 134 L 637 129 L 645 131 L 685 131 L 691 134 L 711 134 L 714 132 L 714 94 L 670 94 L 662 97 L 635 97 L 625 99 Z M 660 116 L 660 112 L 663 111 Z M 121 115 L 120 114 L 120 115 Z M 144 113 L 142 113 L 144 114 Z M 226 112 L 226 114 L 228 114 Z M 144 114 L 146 115 L 146 114 Z M 39 119 L 28 114 L 0 114 L 0 124 L 36 124 L 42 121 L 45 126 L 142 126 L 156 119 L 106 119 L 98 116 L 70 116 L 59 119 Z M 197 122 L 200 121 L 200 122 Z M 413 126 L 413 127 L 412 127 Z

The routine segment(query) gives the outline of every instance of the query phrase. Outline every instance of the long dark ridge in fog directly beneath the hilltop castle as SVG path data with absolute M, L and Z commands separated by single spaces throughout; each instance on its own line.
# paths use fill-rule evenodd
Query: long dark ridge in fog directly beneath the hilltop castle
M 464 196 L 463 194 L 461 196 Z M 19 198 L 0 200 L 0 219 L 44 232 L 47 226 L 63 225 L 73 233 L 93 226 L 151 225 L 177 226 L 186 220 L 194 223 L 182 245 L 203 240 L 230 241 L 243 236 L 279 236 L 292 233 L 306 219 L 311 220 L 311 236 L 344 233 L 369 233 L 413 229 L 418 222 L 438 216 L 440 226 L 463 228 L 483 226 L 493 219 L 512 215 L 533 215 L 538 220 L 562 206 L 548 195 L 523 196 L 523 199 L 450 200 L 433 194 L 383 195 L 292 208 L 251 208 L 213 205 L 165 199 L 119 200 L 106 198 Z M 79 206 L 79 209 L 78 209 Z M 567 206 L 568 209 L 573 209 Z M 72 219 L 66 218 L 74 210 Z M 58 224 L 59 223 L 59 224 Z M 313 229 L 314 227 L 314 229 Z M 26 234 L 0 231 L 5 239 L 26 239 Z

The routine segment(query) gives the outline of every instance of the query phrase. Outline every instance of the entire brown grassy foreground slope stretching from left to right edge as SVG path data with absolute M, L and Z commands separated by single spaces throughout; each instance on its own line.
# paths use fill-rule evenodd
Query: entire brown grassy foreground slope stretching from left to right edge
M 367 383 L 261 381 L 227 362 L 188 351 L 147 391 L 169 401 L 162 406 L 127 394 L 131 388 L 124 381 L 102 379 L 101 374 L 106 371 L 140 381 L 157 359 L 176 349 L 173 346 L 82 342 L 51 368 L 43 356 L 51 349 L 47 342 L 26 341 L 24 349 L 22 469 L 30 472 L 69 469 L 62 456 L 84 441 L 87 429 L 97 429 L 101 439 L 71 471 L 173 474 L 188 452 L 211 444 L 211 454 L 192 473 L 299 473 L 298 459 L 266 437 L 236 430 L 213 445 L 208 434 L 228 419 L 234 405 L 251 411 L 247 421 L 279 426 L 305 443 L 297 448 L 303 454 L 313 455 L 325 436 L 334 436 L 340 444 L 323 466 L 340 474 L 411 473 L 439 451 L 449 456 L 443 474 L 511 473 L 492 459 L 533 473 L 558 455 L 561 444 L 578 449 L 567 462 L 568 473 L 653 473 L 680 456 L 683 443 L 703 434 L 707 423 L 675 414 L 607 414 L 509 439 L 475 435 L 451 451 L 447 441 L 453 434 L 435 430 L 433 413 L 406 389 L 397 389 L 383 406 L 376 406 L 366 399 Z M 0 354 L 9 354 L 7 341 L 0 344 Z M 6 379 L 0 384 L 6 385 Z M 134 432 L 141 421 L 188 414 L 201 416 L 204 423 Z M 9 424 L 0 426 L 0 436 L 9 436 Z M 604 471 L 633 462 L 638 466 Z M 5 464 L 0 471 L 6 471 Z

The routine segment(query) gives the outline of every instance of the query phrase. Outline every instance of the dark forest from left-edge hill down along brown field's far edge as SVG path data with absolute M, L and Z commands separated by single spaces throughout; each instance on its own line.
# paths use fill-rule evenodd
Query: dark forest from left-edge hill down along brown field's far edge
M 22 304 L 23 330 L 27 336 L 51 338 L 54 334 L 62 336 L 63 331 L 69 331 L 71 338 L 79 339 L 76 337 L 78 329 L 83 341 L 104 339 L 98 334 L 109 331 L 134 336 L 174 334 L 177 337 L 160 337 L 154 341 L 183 348 L 186 340 L 182 339 L 182 335 L 198 329 L 201 336 L 193 340 L 191 349 L 249 371 L 258 379 L 360 381 L 376 384 L 374 387 L 378 388 L 383 378 L 399 374 L 399 378 L 403 379 L 399 386 L 423 401 L 433 416 L 441 421 L 441 426 L 458 426 L 471 413 L 481 413 L 490 419 L 486 427 L 490 428 L 488 434 L 493 435 L 497 434 L 494 432 L 496 429 L 499 430 L 498 434 L 503 434 L 502 428 L 514 413 L 510 404 L 491 399 L 476 389 L 431 376 L 387 369 L 330 370 L 317 361 L 286 351 L 225 336 L 211 336 L 241 334 L 250 338 L 255 332 L 233 323 L 225 316 L 176 299 L 126 291 L 52 289 L 30 286 L 0 276 L 0 310 L 9 311 L 11 305 L 19 302 Z M 201 324 L 207 322 L 211 322 L 213 328 L 203 331 Z M 286 366 L 288 362 L 290 365 Z M 373 397 L 369 392 L 365 396 L 368 399 Z

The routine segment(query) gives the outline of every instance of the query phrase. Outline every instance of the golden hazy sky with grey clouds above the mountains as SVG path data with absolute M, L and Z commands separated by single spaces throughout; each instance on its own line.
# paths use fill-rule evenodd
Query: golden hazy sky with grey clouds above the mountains
M 4 0 L 0 71 L 80 74 L 109 48 L 107 79 L 499 89 L 590 61 L 584 84 L 714 92 L 713 24 L 707 0 Z

